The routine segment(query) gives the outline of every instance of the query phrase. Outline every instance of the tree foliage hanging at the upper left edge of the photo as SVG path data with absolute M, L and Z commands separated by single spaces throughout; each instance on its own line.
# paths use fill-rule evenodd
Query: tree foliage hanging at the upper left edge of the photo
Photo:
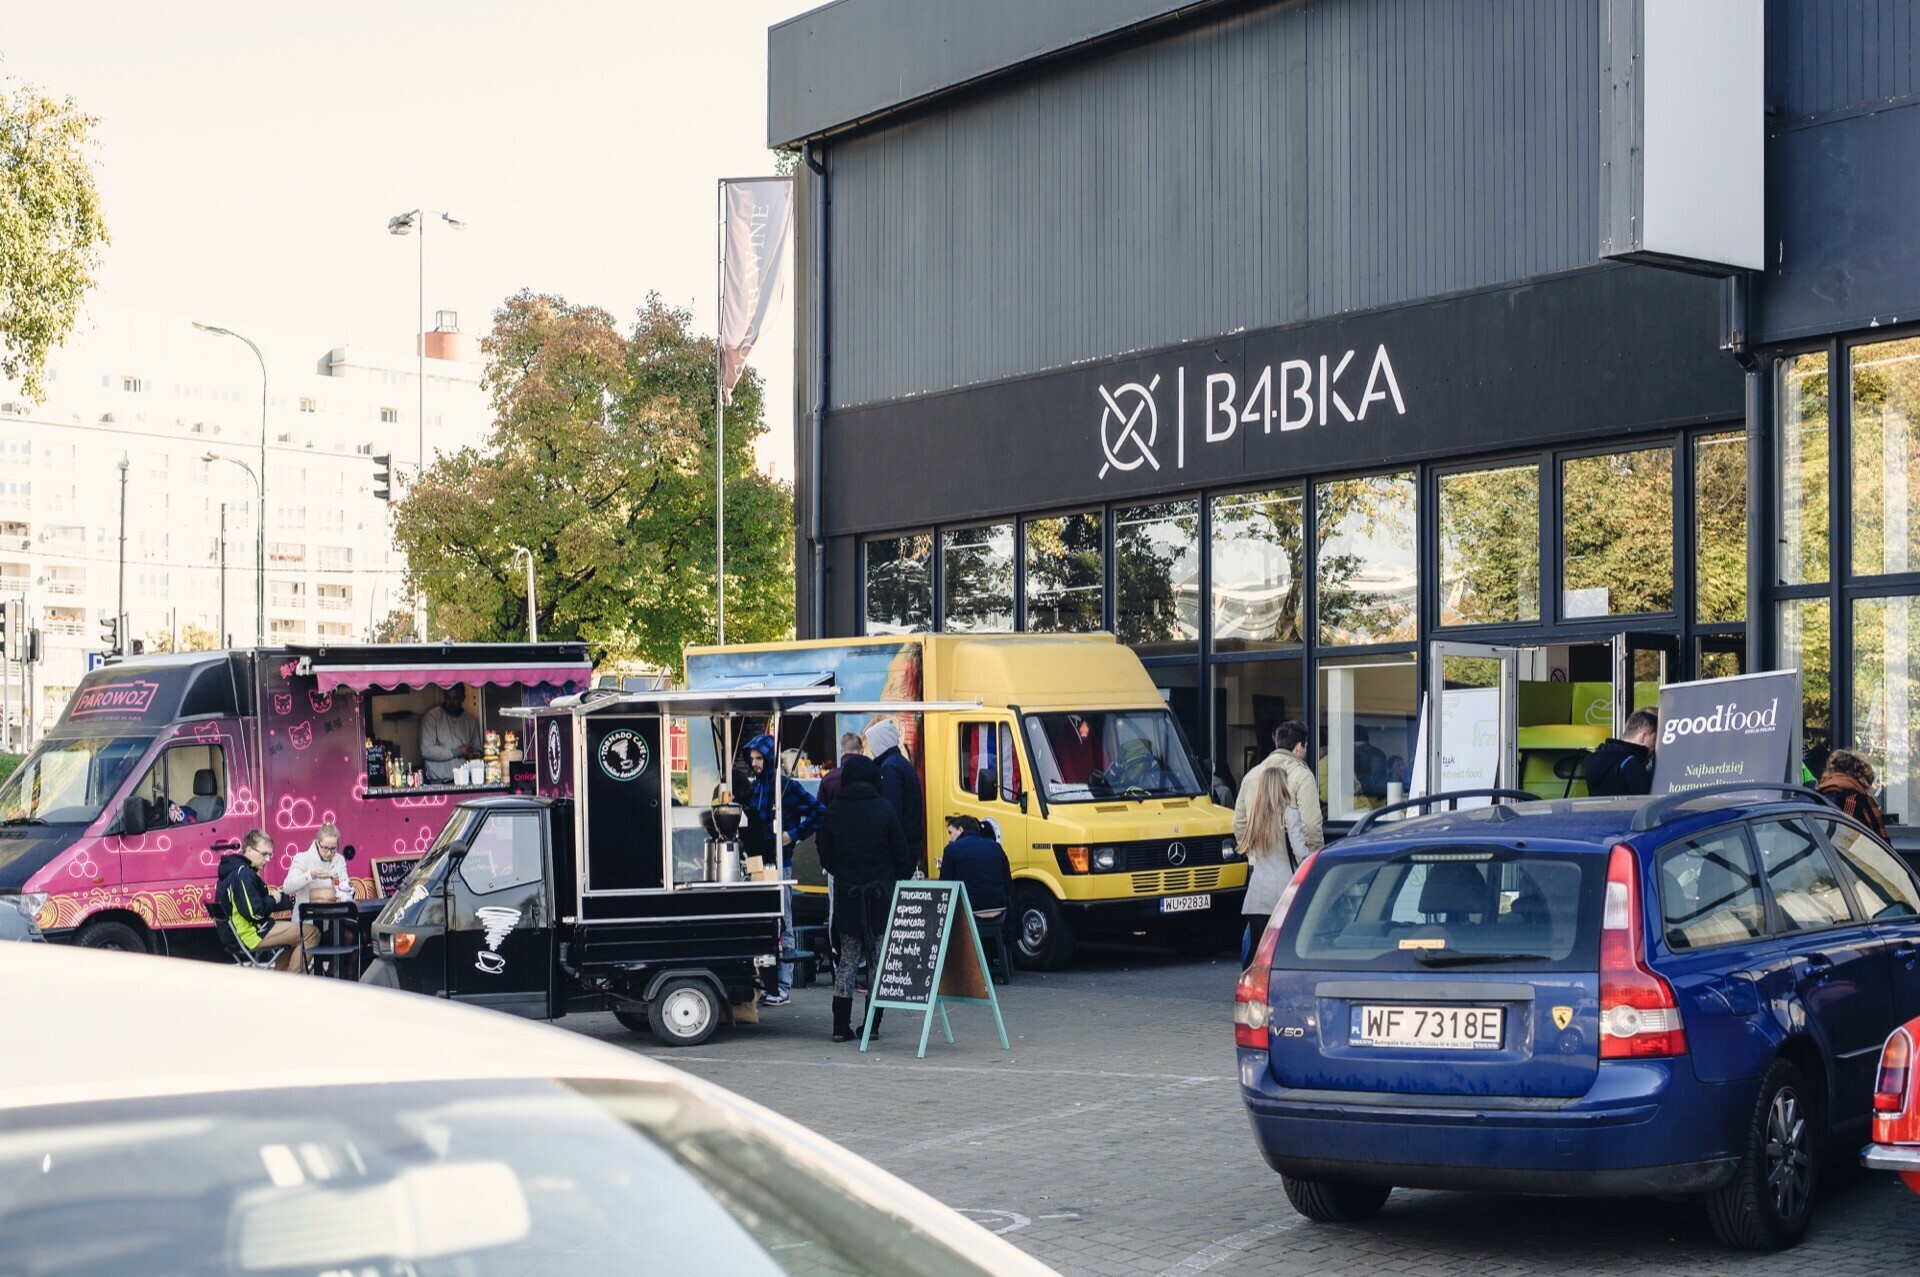
M 0 373 L 35 403 L 108 244 L 88 156 L 96 123 L 73 98 L 0 79 Z

